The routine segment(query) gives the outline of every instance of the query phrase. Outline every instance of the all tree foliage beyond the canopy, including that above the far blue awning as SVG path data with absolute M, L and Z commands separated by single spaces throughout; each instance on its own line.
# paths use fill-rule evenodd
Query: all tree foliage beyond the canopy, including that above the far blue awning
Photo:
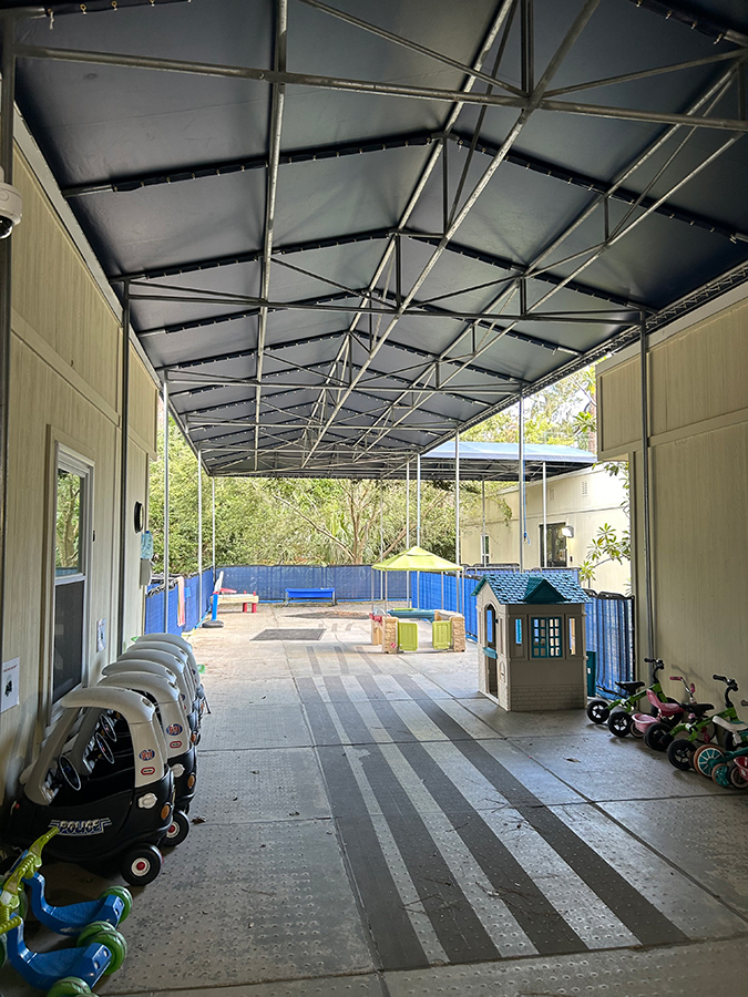
M 530 443 L 571 443 L 594 450 L 592 369 L 560 381 L 524 401 Z M 486 419 L 463 440 L 516 442 L 518 408 Z M 150 528 L 155 566 L 163 566 L 163 434 L 151 466 Z M 414 462 L 413 462 L 414 464 Z M 413 469 L 414 470 L 414 469 Z M 501 482 L 488 482 L 486 497 L 509 507 Z M 217 477 L 216 563 L 370 564 L 416 543 L 416 482 L 410 487 L 410 537 L 406 530 L 406 483 L 338 479 Z M 462 482 L 464 521 L 480 517 L 481 486 Z M 212 563 L 212 481 L 203 474 L 203 564 Z M 380 541 L 380 524 L 383 539 Z M 197 461 L 170 421 L 170 569 L 197 571 Z M 454 482 L 423 482 L 421 546 L 454 558 Z

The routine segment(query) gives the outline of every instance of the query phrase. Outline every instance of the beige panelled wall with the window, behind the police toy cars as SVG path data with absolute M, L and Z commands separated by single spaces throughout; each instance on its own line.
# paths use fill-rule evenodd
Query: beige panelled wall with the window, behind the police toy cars
M 0 794 L 14 792 L 50 716 L 54 446 L 93 463 L 88 680 L 115 656 L 119 585 L 121 342 L 119 316 L 29 162 L 17 150 L 23 220 L 13 239 L 7 587 L 3 658 L 20 659 L 19 705 L 0 716 Z M 131 350 L 130 495 L 146 501 L 156 389 Z M 140 536 L 127 534 L 125 636 L 142 633 Z M 106 647 L 96 651 L 96 621 Z

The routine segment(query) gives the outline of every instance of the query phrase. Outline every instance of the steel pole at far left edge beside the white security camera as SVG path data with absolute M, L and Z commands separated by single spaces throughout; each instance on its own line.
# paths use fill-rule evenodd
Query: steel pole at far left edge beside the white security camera
M 13 183 L 13 114 L 16 101 L 16 20 L 6 20 L 2 35 L 0 96 L 0 167 Z M 4 654 L 6 536 L 8 515 L 8 426 L 10 421 L 11 248 L 12 235 L 0 240 L 0 661 Z

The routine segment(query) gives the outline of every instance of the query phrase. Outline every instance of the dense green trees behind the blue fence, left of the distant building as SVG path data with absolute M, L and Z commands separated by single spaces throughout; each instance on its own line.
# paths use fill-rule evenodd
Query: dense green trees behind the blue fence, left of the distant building
M 163 566 L 163 454 L 151 467 L 150 530 Z M 203 475 L 203 564 L 212 562 L 212 482 Z M 216 562 L 229 564 L 369 564 L 406 545 L 406 484 L 370 480 L 217 477 Z M 445 492 L 448 494 L 445 494 Z M 454 556 L 454 486 L 421 487 L 421 544 Z M 410 543 L 416 543 L 411 487 Z M 170 422 L 170 571 L 197 571 L 197 461 Z

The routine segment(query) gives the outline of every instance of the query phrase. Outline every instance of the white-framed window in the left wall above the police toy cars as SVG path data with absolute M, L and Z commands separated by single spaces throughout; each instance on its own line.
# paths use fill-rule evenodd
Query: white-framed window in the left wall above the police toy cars
M 92 467 L 60 446 L 54 486 L 52 702 L 85 677 Z

